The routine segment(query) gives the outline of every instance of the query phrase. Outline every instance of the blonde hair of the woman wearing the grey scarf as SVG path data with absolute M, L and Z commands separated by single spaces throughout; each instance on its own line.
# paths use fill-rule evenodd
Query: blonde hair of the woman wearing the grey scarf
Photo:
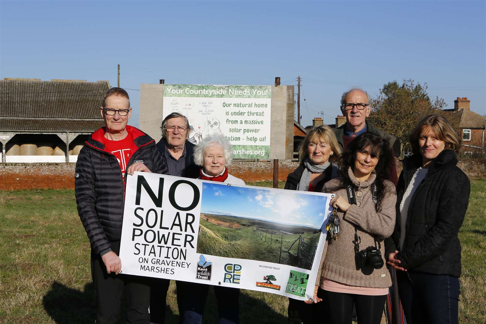
M 331 147 L 332 152 L 334 152 L 334 154 L 332 154 L 329 157 L 329 161 L 332 163 L 337 163 L 339 161 L 339 155 L 341 154 L 341 147 L 337 142 L 336 135 L 328 125 L 320 125 L 314 127 L 309 133 L 307 133 L 304 140 L 299 145 L 300 164 L 304 163 L 305 159 L 309 157 L 309 152 L 307 151 L 307 147 L 309 146 L 310 142 L 328 143 Z

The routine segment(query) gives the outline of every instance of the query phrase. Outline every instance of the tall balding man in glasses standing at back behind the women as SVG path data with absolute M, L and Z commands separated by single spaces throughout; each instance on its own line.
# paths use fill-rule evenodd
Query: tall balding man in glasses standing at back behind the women
M 334 134 L 341 145 L 343 151 L 351 141 L 364 133 L 373 133 L 388 140 L 390 148 L 395 156 L 400 155 L 400 141 L 395 136 L 387 134 L 371 125 L 366 117 L 371 112 L 369 95 L 361 88 L 352 88 L 341 97 L 341 112 L 346 117 L 346 123 L 334 129 Z M 387 168 L 388 178 L 397 186 L 398 175 L 395 165 L 395 158 L 392 156 L 391 163 Z

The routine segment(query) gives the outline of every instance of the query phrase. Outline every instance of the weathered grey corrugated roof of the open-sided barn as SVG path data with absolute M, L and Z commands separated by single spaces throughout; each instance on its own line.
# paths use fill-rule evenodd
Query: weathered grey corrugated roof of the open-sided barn
M 92 132 L 103 126 L 100 102 L 108 81 L 0 80 L 0 130 Z

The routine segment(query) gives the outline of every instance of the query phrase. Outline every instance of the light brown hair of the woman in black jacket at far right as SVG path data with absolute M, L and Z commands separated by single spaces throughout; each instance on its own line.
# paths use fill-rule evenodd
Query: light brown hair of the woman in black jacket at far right
M 457 136 L 457 133 L 454 131 L 449 121 L 440 115 L 429 115 L 422 118 L 418 122 L 417 126 L 415 126 L 415 129 L 412 131 L 412 134 L 410 134 L 408 137 L 410 144 L 412 145 L 413 153 L 420 153 L 418 138 L 422 134 L 423 130 L 428 127 L 430 127 L 435 136 L 446 142 L 446 150 L 451 150 L 456 153 L 459 152 L 461 149 L 461 140 L 459 139 L 459 136 Z

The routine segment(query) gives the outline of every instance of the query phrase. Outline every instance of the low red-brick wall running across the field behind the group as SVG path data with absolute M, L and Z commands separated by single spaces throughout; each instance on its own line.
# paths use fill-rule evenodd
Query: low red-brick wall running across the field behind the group
M 397 172 L 401 162 L 397 162 Z M 75 163 L 0 163 L 0 190 L 19 189 L 72 189 L 74 188 Z M 297 168 L 298 162 L 281 160 L 278 163 L 278 180 Z M 469 178 L 486 179 L 486 159 L 462 159 L 457 164 Z M 228 168 L 229 173 L 254 182 L 273 179 L 273 161 L 235 161 Z

